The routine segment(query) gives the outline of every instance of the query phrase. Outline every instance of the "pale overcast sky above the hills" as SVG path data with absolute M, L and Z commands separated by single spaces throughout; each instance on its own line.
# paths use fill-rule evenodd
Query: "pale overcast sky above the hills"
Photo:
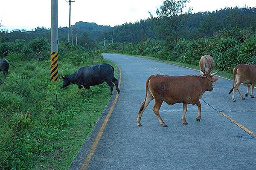
M 71 25 L 77 21 L 99 25 L 121 25 L 155 14 L 163 0 L 76 0 L 71 5 Z M 205 12 L 225 7 L 255 7 L 256 0 L 191 0 L 187 4 L 193 12 Z M 0 0 L 0 19 L 3 29 L 35 29 L 51 26 L 51 0 Z M 69 5 L 58 0 L 58 26 L 68 26 Z M 2 27 L 1 27 L 2 29 Z

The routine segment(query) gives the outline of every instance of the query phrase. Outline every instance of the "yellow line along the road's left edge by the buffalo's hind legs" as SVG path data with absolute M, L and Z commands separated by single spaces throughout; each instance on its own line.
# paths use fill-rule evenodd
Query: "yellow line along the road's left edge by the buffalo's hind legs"
M 117 66 L 117 65 L 116 65 L 116 66 Z M 117 66 L 117 67 L 118 67 L 119 72 L 120 72 L 120 75 L 119 75 L 119 82 L 118 82 L 118 86 L 119 86 L 119 88 L 120 88 L 120 86 L 121 86 L 122 72 L 121 72 L 120 67 L 119 67 L 119 66 Z M 106 125 L 107 125 L 107 123 L 108 123 L 108 120 L 109 120 L 109 118 L 110 118 L 110 116 L 111 116 L 111 113 L 113 112 L 113 109 L 114 109 L 114 107 L 116 106 L 116 101 L 117 101 L 117 99 L 118 99 L 118 96 L 119 96 L 119 94 L 116 93 L 116 98 L 115 98 L 115 100 L 113 101 L 113 104 L 111 105 L 111 108 L 110 108 L 109 111 L 108 111 L 108 115 L 106 116 L 105 121 L 103 122 L 102 127 L 100 128 L 99 133 L 98 133 L 98 135 L 96 136 L 96 138 L 95 138 L 95 140 L 94 140 L 94 142 L 93 142 L 93 144 L 92 144 L 92 146 L 91 146 L 91 148 L 90 148 L 90 151 L 89 151 L 89 153 L 87 154 L 87 157 L 86 157 L 86 159 L 84 160 L 84 163 L 82 164 L 80 170 L 86 170 L 86 169 L 87 169 L 87 167 L 88 167 L 88 165 L 89 165 L 89 163 L 90 163 L 90 160 L 92 159 L 93 154 L 94 154 L 94 152 L 95 152 L 95 150 L 96 150 L 96 148 L 97 148 L 97 146 L 98 146 L 98 144 L 99 144 L 99 140 L 100 140 L 101 137 L 102 137 L 102 134 L 103 134 L 103 132 L 104 132 L 104 130 L 105 130 L 105 127 L 106 127 Z

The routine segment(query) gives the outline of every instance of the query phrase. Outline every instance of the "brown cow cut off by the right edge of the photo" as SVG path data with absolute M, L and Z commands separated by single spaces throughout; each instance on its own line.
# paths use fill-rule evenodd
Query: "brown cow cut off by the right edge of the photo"
M 254 85 L 256 84 L 256 65 L 251 64 L 239 64 L 233 69 L 233 88 L 230 90 L 228 94 L 230 94 L 233 91 L 232 95 L 232 101 L 235 100 L 235 92 L 238 90 L 241 99 L 245 99 L 244 96 L 241 93 L 241 90 L 239 89 L 239 86 L 241 83 L 247 86 L 247 92 L 245 96 L 247 97 L 249 95 L 250 85 L 252 85 L 252 91 L 251 91 L 251 98 L 254 98 L 253 95 L 253 89 Z M 235 84 L 236 81 L 236 84 Z

